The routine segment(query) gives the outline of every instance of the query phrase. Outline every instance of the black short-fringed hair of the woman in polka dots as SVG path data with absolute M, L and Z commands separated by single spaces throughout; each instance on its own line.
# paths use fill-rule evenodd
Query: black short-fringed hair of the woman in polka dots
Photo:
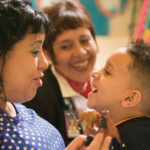
M 32 8 L 29 0 L 0 0 L 0 94 L 3 89 L 2 71 L 7 52 L 27 32 L 44 33 L 49 27 L 49 19 L 41 11 Z

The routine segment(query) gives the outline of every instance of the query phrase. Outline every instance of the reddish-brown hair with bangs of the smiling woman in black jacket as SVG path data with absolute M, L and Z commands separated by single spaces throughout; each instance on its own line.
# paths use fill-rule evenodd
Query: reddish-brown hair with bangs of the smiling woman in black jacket
M 46 34 L 43 48 L 48 51 L 53 63 L 56 63 L 52 44 L 56 37 L 65 30 L 86 27 L 95 39 L 95 31 L 86 8 L 79 0 L 55 0 L 49 7 L 43 9 L 48 15 L 54 30 Z

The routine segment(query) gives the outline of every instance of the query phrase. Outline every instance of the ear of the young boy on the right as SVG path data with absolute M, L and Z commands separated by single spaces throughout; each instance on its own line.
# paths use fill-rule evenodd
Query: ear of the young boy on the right
M 142 99 L 141 92 L 139 90 L 132 90 L 127 97 L 124 98 L 121 105 L 123 107 L 133 107 L 137 105 Z

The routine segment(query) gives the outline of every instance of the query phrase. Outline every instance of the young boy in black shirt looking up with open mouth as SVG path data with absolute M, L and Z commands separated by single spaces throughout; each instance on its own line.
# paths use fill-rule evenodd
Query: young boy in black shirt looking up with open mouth
M 117 50 L 92 77 L 88 106 L 109 110 L 126 150 L 150 150 L 150 45 L 138 40 Z

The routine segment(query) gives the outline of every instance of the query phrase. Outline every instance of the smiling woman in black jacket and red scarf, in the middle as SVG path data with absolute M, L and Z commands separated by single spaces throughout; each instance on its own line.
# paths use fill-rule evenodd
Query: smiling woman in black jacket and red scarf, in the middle
M 43 10 L 53 24 L 44 49 L 51 65 L 45 71 L 43 87 L 26 103 L 52 123 L 67 145 L 80 132 L 69 114 L 87 109 L 89 81 L 98 51 L 94 27 L 87 10 L 78 0 L 59 0 Z

